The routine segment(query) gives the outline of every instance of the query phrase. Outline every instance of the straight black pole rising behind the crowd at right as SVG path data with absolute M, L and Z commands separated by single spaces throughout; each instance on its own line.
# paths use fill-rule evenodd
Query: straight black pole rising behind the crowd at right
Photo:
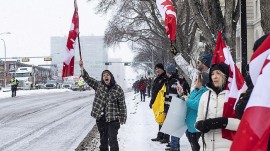
M 240 0 L 241 7 L 241 48 L 242 48 L 242 75 L 246 76 L 247 66 L 247 13 L 246 0 Z

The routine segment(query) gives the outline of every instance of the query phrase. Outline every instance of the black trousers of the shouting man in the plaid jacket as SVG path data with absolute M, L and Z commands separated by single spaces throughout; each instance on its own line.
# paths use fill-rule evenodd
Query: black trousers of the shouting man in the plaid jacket
M 100 151 L 119 151 L 117 135 L 120 128 L 118 121 L 106 122 L 105 119 L 97 120 L 97 127 L 100 134 Z

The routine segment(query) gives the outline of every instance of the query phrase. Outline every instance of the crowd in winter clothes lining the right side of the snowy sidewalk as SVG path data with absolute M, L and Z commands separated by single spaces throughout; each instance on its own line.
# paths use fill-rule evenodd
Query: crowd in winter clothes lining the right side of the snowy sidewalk
M 269 35 L 262 36 L 254 43 L 253 50 L 258 47 Z M 231 148 L 232 139 L 226 138 L 229 132 L 237 132 L 238 126 L 248 99 L 253 89 L 253 84 L 249 72 L 245 77 L 248 90 L 242 93 L 236 103 L 236 117 L 224 117 L 224 104 L 226 100 L 226 89 L 228 78 L 230 77 L 230 67 L 225 63 L 212 64 L 212 56 L 209 54 L 201 55 L 197 60 L 197 69 L 194 81 L 191 87 L 182 75 L 178 74 L 176 66 L 169 64 L 166 70 L 163 64 L 155 66 L 156 78 L 152 84 L 152 95 L 150 100 L 150 108 L 158 99 L 156 98 L 162 86 L 166 85 L 166 93 L 164 94 L 164 113 L 165 119 L 172 97 L 179 98 L 179 101 L 185 101 L 187 112 L 185 122 L 187 125 L 186 136 L 190 142 L 192 151 L 211 150 L 211 151 L 228 151 Z M 248 71 L 248 66 L 247 66 Z M 155 115 L 156 116 L 156 115 Z M 159 130 L 162 124 L 158 124 Z M 225 137 L 224 137 L 224 136 Z M 175 136 L 158 131 L 156 138 L 152 141 L 160 143 L 168 143 L 165 150 L 179 151 L 180 139 Z M 269 137 L 270 142 L 270 137 Z M 270 143 L 268 143 L 268 150 Z

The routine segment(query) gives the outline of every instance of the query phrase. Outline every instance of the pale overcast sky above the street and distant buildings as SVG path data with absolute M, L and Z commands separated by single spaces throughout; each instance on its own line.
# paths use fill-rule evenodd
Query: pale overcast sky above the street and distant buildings
M 6 42 L 7 57 L 48 56 L 50 37 L 67 36 L 74 11 L 73 0 L 0 0 L 0 35 Z M 94 2 L 77 0 L 81 36 L 102 36 L 109 17 L 96 15 Z M 120 56 L 119 47 L 109 56 Z M 127 50 L 127 47 L 124 46 Z M 130 52 L 129 52 L 130 53 Z M 131 61 L 132 55 L 124 55 Z M 4 57 L 0 41 L 0 58 Z M 42 61 L 42 59 L 40 59 Z

